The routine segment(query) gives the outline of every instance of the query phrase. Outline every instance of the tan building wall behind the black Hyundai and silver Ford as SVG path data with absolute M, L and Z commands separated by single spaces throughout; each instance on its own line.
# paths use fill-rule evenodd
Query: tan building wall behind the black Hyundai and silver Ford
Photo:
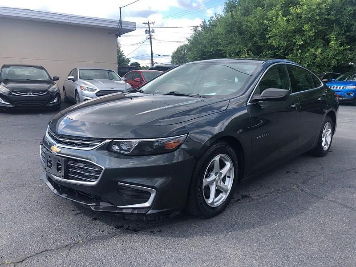
M 34 64 L 47 69 L 63 98 L 63 82 L 74 67 L 117 71 L 117 37 L 110 30 L 0 18 L 0 66 Z

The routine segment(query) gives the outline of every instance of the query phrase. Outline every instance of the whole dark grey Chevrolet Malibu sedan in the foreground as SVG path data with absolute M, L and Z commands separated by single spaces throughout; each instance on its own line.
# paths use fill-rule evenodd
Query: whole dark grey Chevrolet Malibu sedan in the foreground
M 54 116 L 41 179 L 95 211 L 209 218 L 240 180 L 307 151 L 325 156 L 338 106 L 315 74 L 290 61 L 187 63 Z

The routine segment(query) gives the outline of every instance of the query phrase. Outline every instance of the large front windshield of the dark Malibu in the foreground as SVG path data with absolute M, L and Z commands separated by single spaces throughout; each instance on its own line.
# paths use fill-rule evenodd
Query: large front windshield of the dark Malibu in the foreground
M 255 63 L 191 63 L 169 70 L 141 87 L 143 93 L 176 92 L 205 97 L 237 93 L 252 77 Z

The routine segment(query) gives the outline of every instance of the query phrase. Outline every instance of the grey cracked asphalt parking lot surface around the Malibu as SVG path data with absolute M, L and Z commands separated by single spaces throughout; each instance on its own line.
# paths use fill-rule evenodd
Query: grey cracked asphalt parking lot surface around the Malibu
M 94 213 L 38 179 L 53 115 L 0 113 L 0 266 L 355 266 L 355 106 L 340 107 L 326 157 L 244 181 L 215 218 L 153 222 Z

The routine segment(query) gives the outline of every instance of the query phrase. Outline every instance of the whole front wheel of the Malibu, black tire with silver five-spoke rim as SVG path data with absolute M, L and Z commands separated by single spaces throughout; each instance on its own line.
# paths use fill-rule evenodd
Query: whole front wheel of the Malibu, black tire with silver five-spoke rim
M 185 209 L 201 218 L 221 213 L 234 194 L 238 168 L 236 153 L 228 143 L 210 146 L 193 171 Z

